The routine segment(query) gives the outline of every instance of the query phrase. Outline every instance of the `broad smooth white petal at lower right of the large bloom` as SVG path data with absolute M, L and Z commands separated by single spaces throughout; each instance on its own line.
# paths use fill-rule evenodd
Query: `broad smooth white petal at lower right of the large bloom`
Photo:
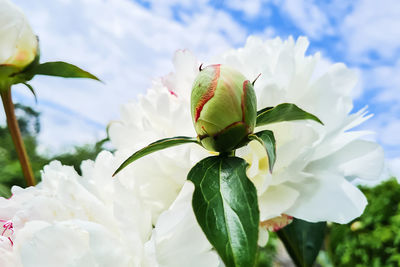
M 359 217 L 367 199 L 343 176 L 318 172 L 315 178 L 296 184 L 300 195 L 287 214 L 310 222 L 348 223 Z

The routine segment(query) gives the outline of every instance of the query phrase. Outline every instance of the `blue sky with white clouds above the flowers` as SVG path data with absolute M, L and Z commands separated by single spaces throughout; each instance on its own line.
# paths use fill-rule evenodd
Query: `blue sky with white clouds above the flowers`
M 377 134 L 388 164 L 400 173 L 400 2 L 398 0 L 13 0 L 40 38 L 43 60 L 65 60 L 97 74 L 92 81 L 38 77 L 39 98 L 18 87 L 15 98 L 42 112 L 43 151 L 105 136 L 119 107 L 151 79 L 172 71 L 187 48 L 207 62 L 251 34 L 307 36 L 308 53 L 359 70 L 354 110 L 375 116 L 363 129 Z M 4 115 L 0 118 L 4 121 Z M 68 129 L 68 134 L 65 134 Z

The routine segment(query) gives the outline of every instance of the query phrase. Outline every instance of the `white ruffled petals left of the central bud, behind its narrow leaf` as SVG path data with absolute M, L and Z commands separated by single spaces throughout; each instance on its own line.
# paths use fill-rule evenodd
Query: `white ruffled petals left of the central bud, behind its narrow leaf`
M 118 158 L 127 158 L 155 140 L 196 136 L 190 116 L 190 93 L 199 65 L 189 51 L 177 51 L 175 73 L 157 80 L 136 103 L 123 106 L 122 119 L 111 124 L 111 142 Z M 175 200 L 191 167 L 209 154 L 191 144 L 139 159 L 122 172 L 131 173 L 139 194 L 151 210 L 153 224 Z

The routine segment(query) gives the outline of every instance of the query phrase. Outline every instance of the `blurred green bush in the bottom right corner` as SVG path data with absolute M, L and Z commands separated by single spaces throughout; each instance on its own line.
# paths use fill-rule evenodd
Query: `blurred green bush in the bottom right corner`
M 400 266 L 400 185 L 392 178 L 361 190 L 369 202 L 363 215 L 330 227 L 328 251 L 334 266 Z

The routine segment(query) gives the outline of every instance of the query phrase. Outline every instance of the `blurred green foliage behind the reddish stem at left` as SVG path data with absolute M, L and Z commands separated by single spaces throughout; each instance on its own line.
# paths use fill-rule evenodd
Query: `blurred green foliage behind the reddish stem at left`
M 104 140 L 95 145 L 77 146 L 71 153 L 56 156 L 40 155 L 36 150 L 37 136 L 40 132 L 40 114 L 30 107 L 19 104 L 15 104 L 15 110 L 21 135 L 37 181 L 40 181 L 40 171 L 43 166 L 52 160 L 59 160 L 65 165 L 72 165 L 80 172 L 79 166 L 82 160 L 95 159 L 102 150 Z M 10 197 L 10 189 L 13 185 L 26 187 L 8 128 L 0 125 L 0 196 Z

